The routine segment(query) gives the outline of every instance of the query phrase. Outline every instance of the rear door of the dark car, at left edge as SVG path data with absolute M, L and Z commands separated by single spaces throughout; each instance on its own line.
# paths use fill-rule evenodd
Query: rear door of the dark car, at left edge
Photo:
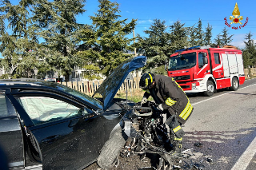
M 6 153 L 10 168 L 24 166 L 21 127 L 3 89 L 0 89 L 0 146 Z

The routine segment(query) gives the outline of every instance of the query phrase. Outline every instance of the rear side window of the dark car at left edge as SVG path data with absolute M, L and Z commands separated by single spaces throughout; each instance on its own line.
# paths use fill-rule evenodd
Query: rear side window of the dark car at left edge
M 0 117 L 16 116 L 14 106 L 11 105 L 6 95 L 0 92 Z

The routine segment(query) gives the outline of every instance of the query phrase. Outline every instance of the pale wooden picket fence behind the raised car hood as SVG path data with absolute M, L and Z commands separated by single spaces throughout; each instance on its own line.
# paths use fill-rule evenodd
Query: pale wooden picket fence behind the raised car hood
M 134 77 L 130 80 L 125 80 L 121 87 L 118 89 L 118 92 L 128 92 L 130 90 L 135 91 L 139 90 L 138 82 L 140 77 Z M 76 89 L 82 93 L 92 96 L 94 92 L 98 89 L 99 85 L 101 85 L 103 80 L 99 81 L 69 81 L 69 82 L 62 82 L 62 85 L 66 85 L 72 89 Z M 60 83 L 61 84 L 61 83 Z

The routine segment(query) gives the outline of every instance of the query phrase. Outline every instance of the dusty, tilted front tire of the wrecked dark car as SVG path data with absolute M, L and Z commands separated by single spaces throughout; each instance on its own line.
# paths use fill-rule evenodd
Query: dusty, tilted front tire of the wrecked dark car
M 126 144 L 121 126 L 118 124 L 111 132 L 110 139 L 106 141 L 98 156 L 97 164 L 102 169 L 114 167 L 122 147 Z

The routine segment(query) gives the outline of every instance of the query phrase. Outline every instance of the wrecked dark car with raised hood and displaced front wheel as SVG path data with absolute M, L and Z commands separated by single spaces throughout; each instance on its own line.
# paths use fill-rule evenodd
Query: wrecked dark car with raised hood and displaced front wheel
M 143 56 L 119 65 L 95 92 L 102 98 L 46 81 L 0 81 L 0 145 L 9 167 L 114 164 L 126 143 L 121 118 L 134 105 L 114 96 L 128 73 L 144 65 Z

